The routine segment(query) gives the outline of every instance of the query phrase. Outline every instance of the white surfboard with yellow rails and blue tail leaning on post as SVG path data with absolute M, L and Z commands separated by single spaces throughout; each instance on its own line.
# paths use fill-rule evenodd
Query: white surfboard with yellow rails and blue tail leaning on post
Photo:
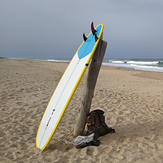
M 92 26 L 93 23 L 91 29 Z M 103 24 L 93 28 L 62 75 L 41 119 L 36 135 L 37 148 L 44 150 L 50 142 L 97 48 L 103 28 Z

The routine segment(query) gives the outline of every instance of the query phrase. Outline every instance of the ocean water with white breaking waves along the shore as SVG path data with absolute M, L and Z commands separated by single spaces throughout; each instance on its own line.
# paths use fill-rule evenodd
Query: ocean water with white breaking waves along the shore
M 51 62 L 70 62 L 71 59 L 48 59 Z M 128 70 L 163 73 L 163 59 L 104 59 L 103 66 L 115 66 Z

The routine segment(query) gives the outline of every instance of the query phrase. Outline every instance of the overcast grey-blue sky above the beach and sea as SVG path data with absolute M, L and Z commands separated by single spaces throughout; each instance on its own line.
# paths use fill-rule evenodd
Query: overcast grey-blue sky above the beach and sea
M 105 58 L 163 58 L 163 0 L 0 0 L 0 57 L 72 58 L 91 22 Z

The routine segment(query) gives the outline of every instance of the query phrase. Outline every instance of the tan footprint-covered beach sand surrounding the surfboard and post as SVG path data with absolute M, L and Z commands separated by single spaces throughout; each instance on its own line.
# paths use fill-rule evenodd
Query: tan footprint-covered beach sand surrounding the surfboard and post
M 52 140 L 35 146 L 37 129 L 67 63 L 0 59 L 1 163 L 162 163 L 163 73 L 102 67 L 91 110 L 102 109 L 116 133 L 99 147 L 76 149 L 73 130 L 87 72 Z

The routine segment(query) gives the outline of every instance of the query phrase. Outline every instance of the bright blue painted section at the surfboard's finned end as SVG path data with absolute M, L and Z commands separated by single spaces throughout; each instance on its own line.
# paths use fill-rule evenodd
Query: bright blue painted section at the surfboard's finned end
M 95 28 L 95 30 L 97 30 L 97 37 L 100 34 L 101 28 L 102 28 L 101 25 L 99 25 L 97 28 Z M 82 58 L 86 57 L 88 54 L 90 54 L 94 48 L 95 43 L 96 43 L 95 36 L 93 36 L 93 34 L 91 33 L 89 35 L 89 37 L 87 38 L 87 40 L 83 43 L 83 45 L 78 50 L 78 58 L 82 59 Z

